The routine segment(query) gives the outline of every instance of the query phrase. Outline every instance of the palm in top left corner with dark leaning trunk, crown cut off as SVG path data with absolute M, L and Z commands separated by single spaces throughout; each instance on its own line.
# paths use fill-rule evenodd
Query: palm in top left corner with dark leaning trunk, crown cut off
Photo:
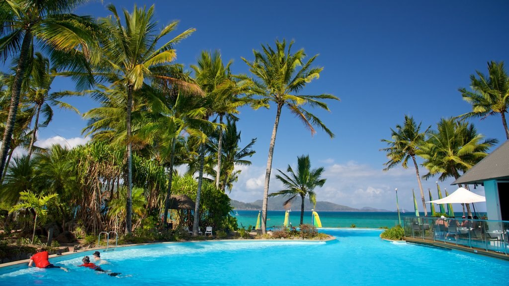
M 34 45 L 48 50 L 59 63 L 74 70 L 82 69 L 82 63 L 96 55 L 93 52 L 97 43 L 93 34 L 95 30 L 91 28 L 94 20 L 70 13 L 86 2 L 88 0 L 10 0 L 0 4 L 0 58 L 5 61 L 10 56 L 17 56 L 9 116 L 0 148 L 0 174 L 5 168 L 21 84 L 32 59 Z M 72 55 L 69 56 L 69 53 Z

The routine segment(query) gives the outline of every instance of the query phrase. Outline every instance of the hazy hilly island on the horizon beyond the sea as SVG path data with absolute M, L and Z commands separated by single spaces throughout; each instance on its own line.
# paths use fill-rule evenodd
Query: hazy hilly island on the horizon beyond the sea
M 268 211 L 282 211 L 284 208 L 282 207 L 283 203 L 286 201 L 284 197 L 269 197 L 269 202 L 267 206 Z M 300 210 L 300 197 L 296 198 L 292 204 L 293 210 Z M 235 201 L 232 199 L 230 202 L 231 206 L 235 210 L 261 210 L 263 201 L 259 199 L 258 201 L 254 201 L 252 203 L 243 203 L 239 201 Z M 304 203 L 304 210 L 310 211 L 313 209 L 313 205 L 309 203 L 309 199 L 306 198 L 306 202 Z M 361 209 L 351 208 L 348 206 L 342 206 L 338 204 L 334 204 L 331 202 L 317 202 L 315 207 L 317 211 L 329 211 L 329 212 L 390 212 L 384 209 L 376 209 L 371 207 L 363 207 Z

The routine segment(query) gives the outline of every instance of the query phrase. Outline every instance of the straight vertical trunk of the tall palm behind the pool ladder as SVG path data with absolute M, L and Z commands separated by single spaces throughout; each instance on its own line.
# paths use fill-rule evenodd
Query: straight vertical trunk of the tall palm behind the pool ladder
M 126 232 L 132 231 L 132 143 L 131 143 L 131 109 L 134 87 L 127 85 L 127 195 L 126 195 Z

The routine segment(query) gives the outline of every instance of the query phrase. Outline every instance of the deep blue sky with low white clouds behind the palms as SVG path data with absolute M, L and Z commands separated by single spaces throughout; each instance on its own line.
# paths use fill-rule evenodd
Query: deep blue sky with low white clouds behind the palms
M 96 17 L 108 15 L 104 4 L 91 2 L 76 11 Z M 113 1 L 132 10 L 134 1 Z M 177 63 L 188 67 L 202 50 L 221 51 L 234 60 L 234 73 L 248 73 L 240 59 L 253 59 L 252 49 L 273 45 L 275 39 L 295 40 L 294 51 L 319 53 L 316 66 L 324 67 L 318 80 L 302 94 L 333 94 L 331 112 L 318 111 L 335 133 L 311 136 L 287 109 L 281 116 L 274 150 L 273 171 L 295 165 L 297 156 L 309 154 L 313 166 L 323 166 L 327 183 L 317 189 L 318 201 L 351 207 L 395 209 L 394 188 L 400 206 L 413 209 L 412 188 L 418 193 L 413 168 L 382 172 L 386 157 L 380 141 L 390 128 L 411 115 L 426 128 L 442 117 L 458 116 L 470 106 L 458 88 L 468 88 L 470 74 L 487 73 L 488 61 L 509 64 L 509 2 L 506 1 L 155 1 L 162 27 L 180 20 L 178 32 L 196 32 L 176 46 Z M 173 36 L 177 35 L 176 33 Z M 68 80 L 54 81 L 53 90 L 72 89 Z M 90 98 L 67 100 L 81 112 L 96 106 Z M 275 108 L 242 108 L 239 130 L 242 143 L 257 137 L 252 165 L 244 167 L 230 196 L 243 202 L 263 197 L 263 182 Z M 472 120 L 480 133 L 503 142 L 499 116 Z M 70 111 L 56 112 L 53 122 L 40 131 L 40 146 L 63 141 L 86 141 L 80 133 L 86 122 Z M 59 137 L 60 136 L 60 137 Z M 420 167 L 421 174 L 426 170 Z M 436 179 L 423 181 L 436 198 Z M 440 183 L 450 192 L 451 180 Z M 281 185 L 271 179 L 270 192 Z M 482 188 L 475 190 L 484 194 Z M 460 207 L 457 207 L 458 210 Z M 479 204 L 476 209 L 484 209 Z M 428 205 L 429 210 L 429 205 Z

